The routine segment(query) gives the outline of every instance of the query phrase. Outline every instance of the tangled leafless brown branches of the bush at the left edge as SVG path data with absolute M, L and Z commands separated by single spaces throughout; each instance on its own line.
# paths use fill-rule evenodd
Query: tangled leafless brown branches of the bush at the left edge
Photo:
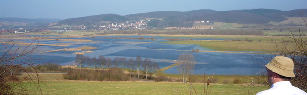
M 32 62 L 33 60 L 40 61 L 42 58 L 33 59 L 31 57 L 34 52 L 39 52 L 38 47 L 43 46 L 39 45 L 39 37 L 36 37 L 22 49 L 20 46 L 15 46 L 13 40 L 4 42 L 1 40 L 2 36 L 0 36 L 0 44 L 2 44 L 0 45 L 0 51 L 3 51 L 2 55 L 0 55 L 0 94 L 27 94 L 26 86 L 29 84 L 24 84 L 24 82 L 34 82 L 34 86 L 36 86 L 35 93 L 42 94 L 40 87 L 45 83 L 40 80 L 38 71 L 34 67 L 36 64 Z M 35 41 L 37 43 L 33 43 Z M 34 74 L 29 73 L 31 71 L 28 71 L 25 66 L 33 69 Z M 21 76 L 18 76 L 20 75 L 19 72 L 26 72 L 28 76 L 21 78 Z

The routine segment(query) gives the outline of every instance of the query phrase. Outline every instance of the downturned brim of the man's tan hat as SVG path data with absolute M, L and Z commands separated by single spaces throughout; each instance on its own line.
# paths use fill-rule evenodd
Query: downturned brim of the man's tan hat
M 268 63 L 267 65 L 265 65 L 265 67 L 267 67 L 268 69 L 270 69 L 272 72 L 275 72 L 279 75 L 285 76 L 285 77 L 295 77 L 293 70 L 284 70 L 284 69 L 280 69 L 276 66 L 273 66 L 271 63 Z

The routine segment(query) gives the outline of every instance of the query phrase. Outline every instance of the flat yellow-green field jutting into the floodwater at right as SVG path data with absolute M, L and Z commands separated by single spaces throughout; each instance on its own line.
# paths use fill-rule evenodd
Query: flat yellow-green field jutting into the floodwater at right
M 275 42 L 247 41 L 168 41 L 168 44 L 196 44 L 216 51 L 271 51 L 274 52 Z M 282 45 L 278 42 L 277 44 Z M 265 50 L 264 50 L 265 49 Z

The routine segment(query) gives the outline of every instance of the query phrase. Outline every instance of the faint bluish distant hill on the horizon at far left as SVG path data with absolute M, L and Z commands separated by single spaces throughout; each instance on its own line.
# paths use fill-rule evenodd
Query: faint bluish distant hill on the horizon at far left
M 50 23 L 58 22 L 60 19 L 29 19 L 29 18 L 0 18 L 0 22 L 24 22 L 24 23 Z

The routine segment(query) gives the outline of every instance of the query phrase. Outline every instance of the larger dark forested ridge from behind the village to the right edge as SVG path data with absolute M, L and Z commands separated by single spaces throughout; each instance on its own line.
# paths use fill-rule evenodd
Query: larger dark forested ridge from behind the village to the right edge
M 281 22 L 286 17 L 300 17 L 299 13 L 307 12 L 307 9 L 281 11 L 273 9 L 251 9 L 251 10 L 194 10 L 187 12 L 158 11 L 126 15 L 130 18 L 166 18 L 171 21 L 216 21 L 229 23 L 258 23 L 265 24 L 270 21 Z

